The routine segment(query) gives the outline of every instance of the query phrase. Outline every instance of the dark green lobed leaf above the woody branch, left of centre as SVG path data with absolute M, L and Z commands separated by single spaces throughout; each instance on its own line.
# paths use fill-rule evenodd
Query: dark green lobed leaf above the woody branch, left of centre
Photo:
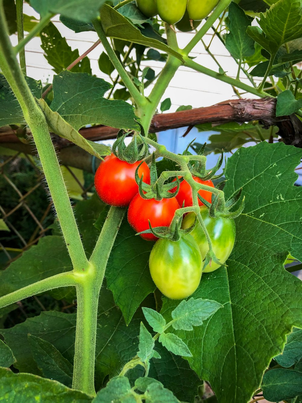
M 93 123 L 138 129 L 130 104 L 103 98 L 111 88 L 111 84 L 103 79 L 65 70 L 54 77 L 53 85 L 54 99 L 50 109 L 58 112 L 74 129 Z

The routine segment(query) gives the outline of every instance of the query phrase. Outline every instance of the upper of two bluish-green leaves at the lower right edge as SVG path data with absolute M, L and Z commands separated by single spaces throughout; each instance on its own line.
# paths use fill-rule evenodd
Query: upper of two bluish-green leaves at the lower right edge
M 302 359 L 302 330 L 294 329 L 288 335 L 287 342 L 282 354 L 274 358 L 279 365 L 289 368 Z

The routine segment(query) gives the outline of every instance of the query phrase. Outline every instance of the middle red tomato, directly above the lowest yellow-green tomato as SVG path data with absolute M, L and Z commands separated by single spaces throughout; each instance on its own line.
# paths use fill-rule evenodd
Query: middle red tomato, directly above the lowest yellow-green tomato
M 139 193 L 133 197 L 128 208 L 128 222 L 136 232 L 149 229 L 151 226 L 169 226 L 174 213 L 179 208 L 175 197 L 172 199 L 161 199 L 159 202 L 155 199 L 143 199 Z M 158 238 L 153 234 L 140 235 L 147 241 L 156 241 Z

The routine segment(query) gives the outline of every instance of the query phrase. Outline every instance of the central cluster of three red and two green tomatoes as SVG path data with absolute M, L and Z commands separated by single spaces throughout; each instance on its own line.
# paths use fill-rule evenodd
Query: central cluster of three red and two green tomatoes
M 95 189 L 100 199 L 116 207 L 128 208 L 128 222 L 136 231 L 169 226 L 174 213 L 181 206 L 192 206 L 192 189 L 183 180 L 176 197 L 170 199 L 144 199 L 139 194 L 135 181 L 135 170 L 141 161 L 134 164 L 119 160 L 114 154 L 105 157 L 95 173 Z M 150 183 L 150 170 L 145 162 L 138 170 L 145 183 Z M 197 183 L 213 187 L 211 181 L 202 181 L 193 177 Z M 176 191 L 175 189 L 171 190 Z M 211 202 L 212 193 L 205 190 L 198 192 L 204 199 Z M 201 216 L 212 241 L 215 256 L 221 263 L 230 255 L 234 246 L 235 226 L 231 218 L 211 218 L 209 210 L 201 206 Z M 194 213 L 183 218 L 182 228 L 190 228 L 195 220 Z M 149 268 L 157 288 L 171 299 L 182 299 L 191 295 L 198 287 L 202 272 L 211 272 L 219 268 L 215 262 L 208 264 L 203 270 L 203 260 L 209 249 L 207 239 L 199 223 L 188 235 L 179 241 L 158 239 L 152 233 L 140 234 L 147 241 L 156 241 L 150 253 Z

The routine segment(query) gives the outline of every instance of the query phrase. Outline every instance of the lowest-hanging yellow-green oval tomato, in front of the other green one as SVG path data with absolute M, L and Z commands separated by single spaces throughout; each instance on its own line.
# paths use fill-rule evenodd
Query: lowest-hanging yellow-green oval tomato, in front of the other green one
M 149 268 L 156 287 L 168 298 L 183 299 L 197 289 L 202 273 L 201 253 L 191 235 L 179 241 L 159 239 L 153 246 Z

